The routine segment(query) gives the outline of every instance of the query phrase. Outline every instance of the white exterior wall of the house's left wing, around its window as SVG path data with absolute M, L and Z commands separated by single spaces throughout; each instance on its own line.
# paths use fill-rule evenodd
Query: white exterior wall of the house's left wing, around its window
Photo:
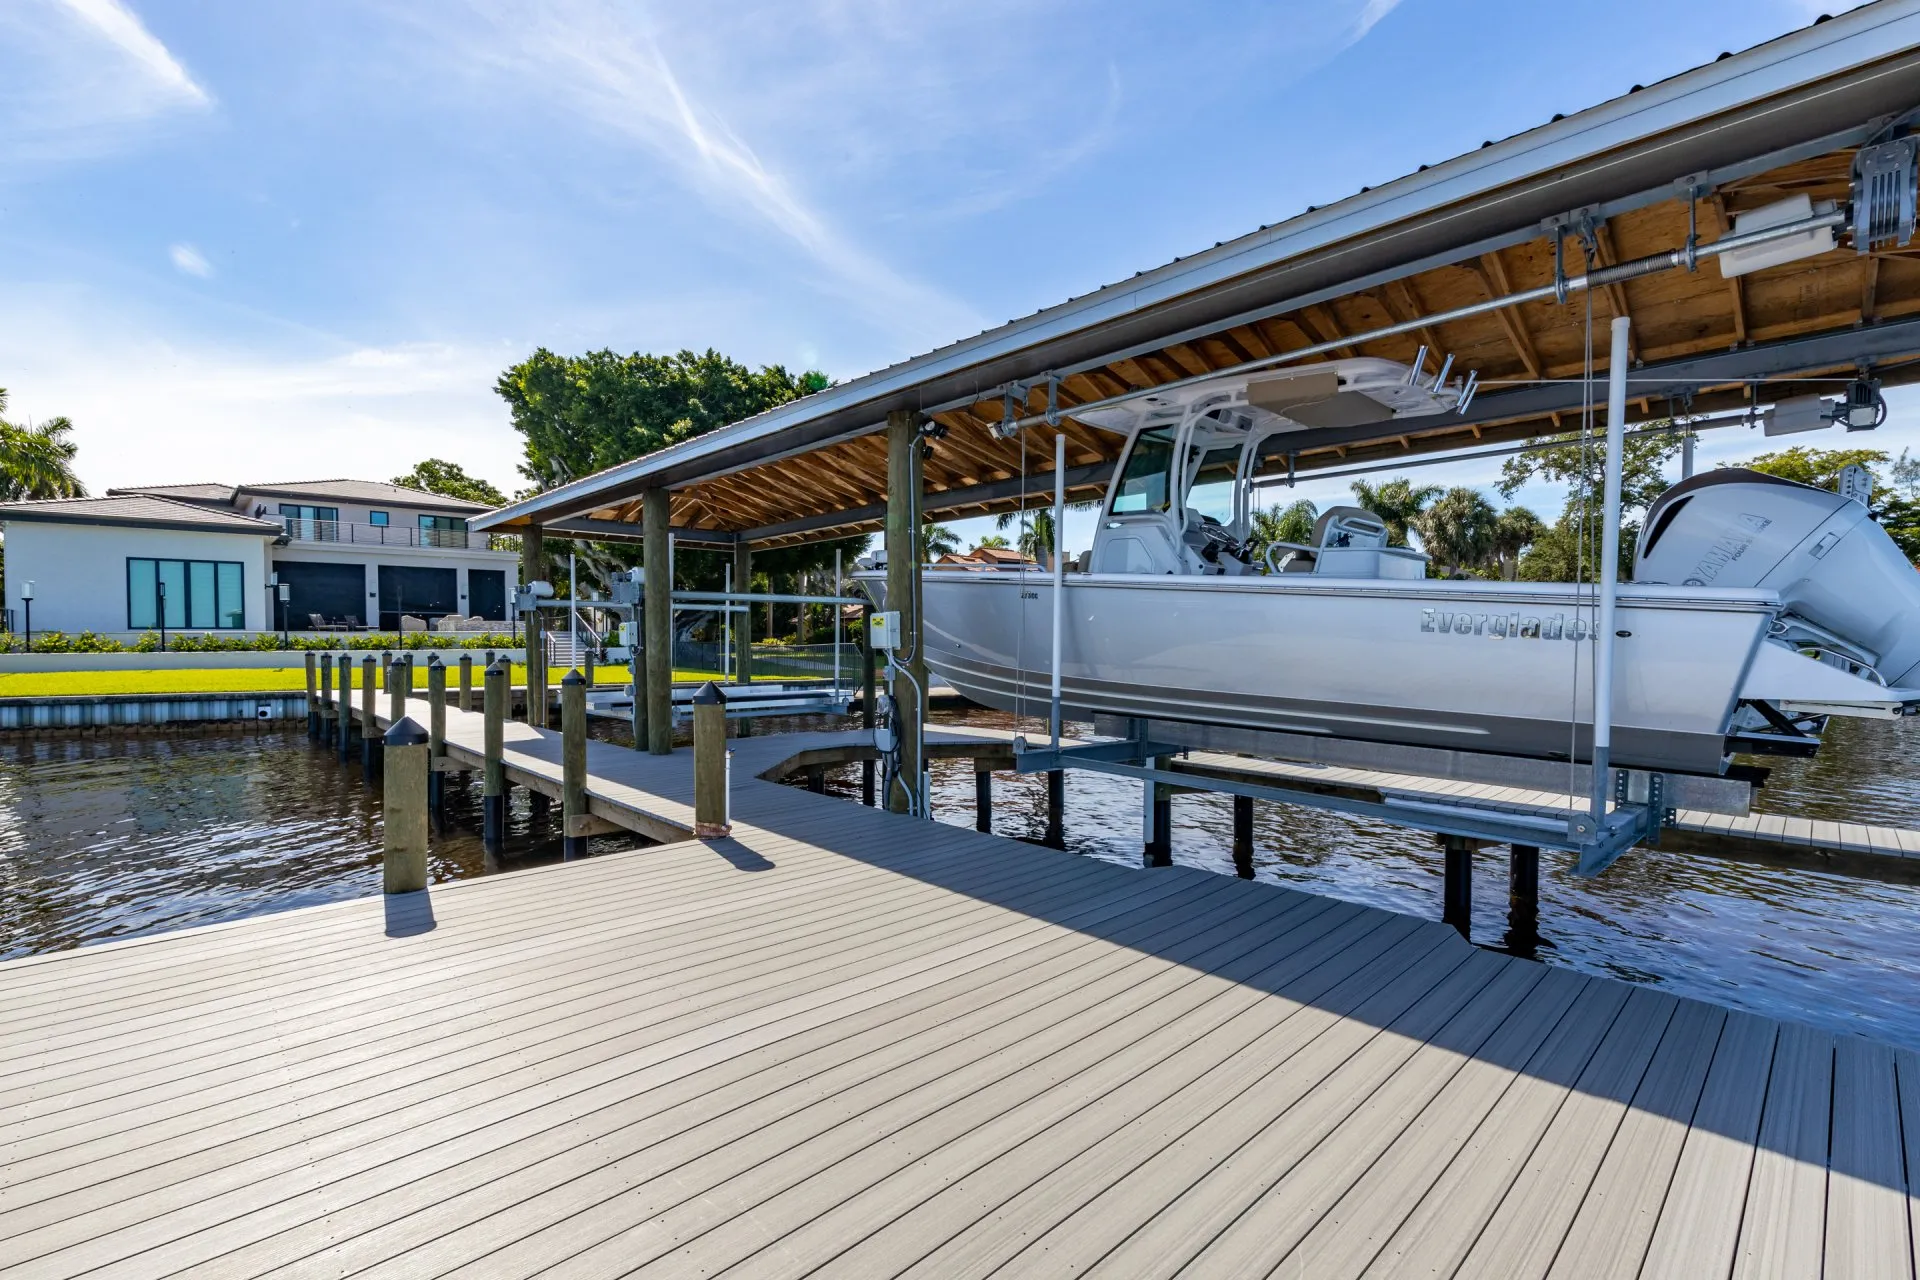
M 31 581 L 35 631 L 127 631 L 129 557 L 238 560 L 246 629 L 265 629 L 267 545 L 269 539 L 259 533 L 10 520 L 6 606 L 13 612 L 13 624 L 25 626 L 19 587 Z

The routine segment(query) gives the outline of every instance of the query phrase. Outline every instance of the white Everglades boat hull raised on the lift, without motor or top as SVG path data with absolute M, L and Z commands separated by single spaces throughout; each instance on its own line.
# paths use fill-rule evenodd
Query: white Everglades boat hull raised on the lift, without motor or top
M 1044 714 L 1050 578 L 929 570 L 924 583 L 927 666 L 977 702 Z M 1622 587 L 1615 764 L 1718 773 L 1741 679 L 1776 608 L 1770 593 Z M 1590 591 L 1069 574 L 1064 612 L 1062 702 L 1079 718 L 1590 754 Z

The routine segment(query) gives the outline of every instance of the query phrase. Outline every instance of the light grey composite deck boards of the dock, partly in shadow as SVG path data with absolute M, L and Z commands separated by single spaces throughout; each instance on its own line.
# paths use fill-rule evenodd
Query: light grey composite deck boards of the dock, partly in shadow
M 845 747 L 737 741 L 732 841 L 0 965 L 0 1270 L 1912 1278 L 1912 1054 L 762 781 Z

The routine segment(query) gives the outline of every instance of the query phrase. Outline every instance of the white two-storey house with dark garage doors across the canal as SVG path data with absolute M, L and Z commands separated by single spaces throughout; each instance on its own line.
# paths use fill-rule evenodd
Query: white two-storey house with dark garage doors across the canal
M 518 555 L 470 533 L 486 510 L 378 480 L 188 484 L 0 503 L 6 610 L 35 631 L 399 629 L 509 624 Z M 286 583 L 280 612 L 275 583 Z

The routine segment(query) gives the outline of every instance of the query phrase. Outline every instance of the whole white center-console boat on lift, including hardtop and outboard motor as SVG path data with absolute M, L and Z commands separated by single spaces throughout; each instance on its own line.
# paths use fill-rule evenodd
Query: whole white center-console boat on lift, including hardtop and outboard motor
M 1129 436 L 1094 545 L 1064 574 L 1062 704 L 1152 722 L 1586 760 L 1596 589 L 1427 578 L 1365 510 L 1244 553 L 1290 432 L 1452 411 L 1457 390 L 1352 359 L 1079 415 Z M 1279 461 L 1279 462 L 1277 462 Z M 1044 484 L 1044 480 L 1043 480 Z M 860 574 L 881 591 L 885 574 Z M 1052 578 L 929 566 L 925 660 L 1044 714 Z M 1743 470 L 1674 486 L 1619 591 L 1613 762 L 1722 773 L 1811 750 L 1824 716 L 1920 708 L 1920 574 L 1859 501 Z

